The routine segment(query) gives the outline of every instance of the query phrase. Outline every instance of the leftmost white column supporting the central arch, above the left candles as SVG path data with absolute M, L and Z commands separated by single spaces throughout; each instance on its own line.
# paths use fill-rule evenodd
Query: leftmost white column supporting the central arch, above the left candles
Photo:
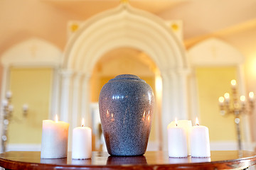
M 62 74 L 62 86 L 60 94 L 60 120 L 70 123 L 70 111 L 72 103 L 71 80 L 73 71 L 65 70 Z

